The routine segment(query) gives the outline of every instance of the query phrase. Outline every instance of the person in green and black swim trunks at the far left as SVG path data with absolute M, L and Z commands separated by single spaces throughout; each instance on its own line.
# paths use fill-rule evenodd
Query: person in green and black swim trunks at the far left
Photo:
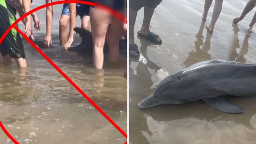
M 25 13 L 30 11 L 31 2 L 23 0 Z M 16 9 L 9 0 L 0 0 L 0 35 L 2 36 L 8 27 L 16 21 Z M 31 16 L 27 16 L 25 35 L 30 37 L 31 31 Z M 18 25 L 16 25 L 18 27 Z M 12 28 L 0 44 L 0 52 L 2 54 L 4 65 L 11 65 L 11 58 L 14 58 L 18 67 L 27 67 L 24 47 L 21 42 L 20 34 Z

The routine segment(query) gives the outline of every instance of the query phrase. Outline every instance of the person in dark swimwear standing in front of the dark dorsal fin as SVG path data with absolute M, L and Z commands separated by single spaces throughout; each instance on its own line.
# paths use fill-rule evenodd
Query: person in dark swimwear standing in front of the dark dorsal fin
M 104 5 L 120 14 L 125 15 L 125 0 L 95 0 L 95 8 L 90 8 L 91 34 L 93 40 L 93 66 L 102 69 L 104 63 L 103 48 L 107 36 L 109 47 L 109 61 L 116 62 L 119 59 L 119 38 L 122 34 L 122 22 L 112 16 L 108 11 L 98 8 Z

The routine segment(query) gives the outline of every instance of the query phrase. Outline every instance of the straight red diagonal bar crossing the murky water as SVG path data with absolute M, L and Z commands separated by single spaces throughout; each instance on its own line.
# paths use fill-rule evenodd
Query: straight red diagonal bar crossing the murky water
M 27 42 L 30 43 L 38 53 L 40 53 L 64 78 L 66 78 L 66 80 L 73 85 L 73 87 L 79 91 L 80 94 L 82 94 L 87 101 L 89 101 L 127 139 L 127 134 L 113 120 L 111 120 L 110 117 L 108 117 L 107 114 L 105 114 L 104 111 L 101 110 L 101 108 L 98 107 L 98 105 L 95 104 L 64 72 L 62 72 L 62 70 L 59 69 L 59 67 L 56 66 L 50 58 L 48 58 L 18 27 L 14 26 L 14 29 L 17 30 L 18 33 L 21 34 L 21 36 L 24 37 L 24 39 L 27 40 Z

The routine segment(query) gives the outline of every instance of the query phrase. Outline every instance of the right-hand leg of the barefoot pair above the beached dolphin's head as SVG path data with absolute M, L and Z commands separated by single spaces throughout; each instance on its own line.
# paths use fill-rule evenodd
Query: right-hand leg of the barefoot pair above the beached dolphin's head
M 215 25 L 216 21 L 219 18 L 219 14 L 220 14 L 221 9 L 222 9 L 222 2 L 223 2 L 223 0 L 215 0 L 214 8 L 213 8 L 212 21 L 211 21 L 210 25 L 207 26 L 208 30 L 211 33 L 213 32 L 214 25 Z

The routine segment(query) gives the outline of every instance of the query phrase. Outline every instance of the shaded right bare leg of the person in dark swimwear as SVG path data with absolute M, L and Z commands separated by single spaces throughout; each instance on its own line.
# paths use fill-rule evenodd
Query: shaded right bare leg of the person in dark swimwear
M 109 60 L 118 61 L 119 58 L 119 38 L 122 34 L 122 24 L 117 18 L 113 18 L 112 23 L 108 29 L 108 46 L 109 46 Z

